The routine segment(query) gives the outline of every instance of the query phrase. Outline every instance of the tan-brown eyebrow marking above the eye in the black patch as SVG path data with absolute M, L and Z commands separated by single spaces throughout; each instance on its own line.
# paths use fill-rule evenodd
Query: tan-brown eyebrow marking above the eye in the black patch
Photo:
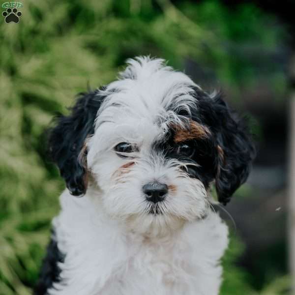
M 196 121 L 190 120 L 189 128 L 176 128 L 174 141 L 180 143 L 190 139 L 206 138 L 210 134 L 209 129 Z

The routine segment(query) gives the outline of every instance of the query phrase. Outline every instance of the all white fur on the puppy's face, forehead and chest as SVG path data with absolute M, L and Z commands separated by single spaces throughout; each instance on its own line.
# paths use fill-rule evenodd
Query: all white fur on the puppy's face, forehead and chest
M 98 94 L 107 98 L 87 142 L 92 180 L 82 198 L 61 195 L 53 225 L 66 256 L 50 295 L 218 294 L 227 227 L 210 210 L 203 183 L 181 169 L 189 164 L 151 148 L 171 122 L 185 123 L 179 109 L 197 107 L 191 94 L 198 86 L 163 62 L 129 60 L 119 80 Z M 121 158 L 113 149 L 120 142 L 138 150 Z M 148 213 L 142 193 L 154 180 L 175 188 L 162 214 Z

